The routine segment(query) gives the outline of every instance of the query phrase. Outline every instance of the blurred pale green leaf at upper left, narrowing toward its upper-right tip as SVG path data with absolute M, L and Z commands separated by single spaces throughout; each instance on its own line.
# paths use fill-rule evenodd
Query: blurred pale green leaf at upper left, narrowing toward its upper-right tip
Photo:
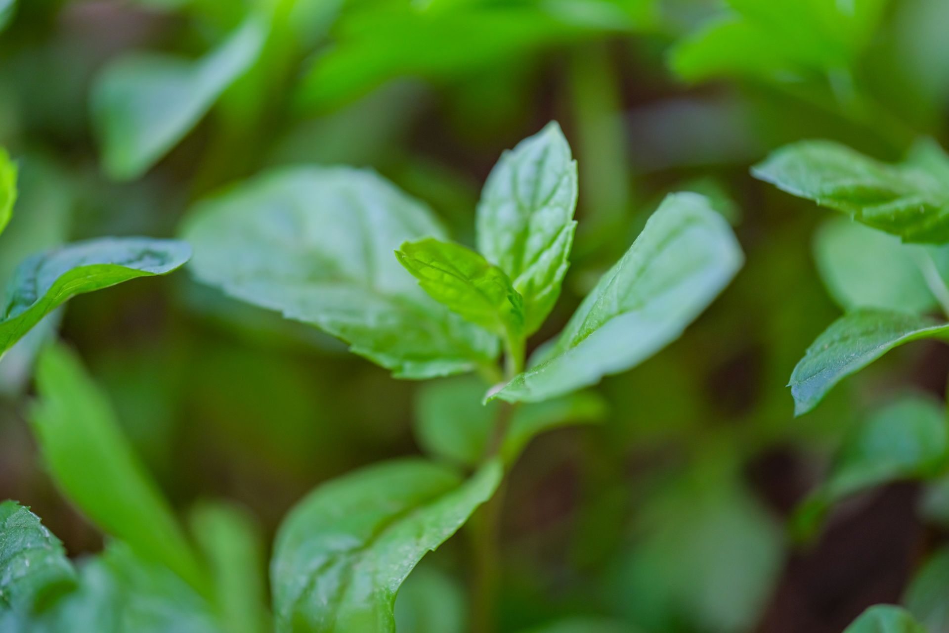
M 147 172 L 248 71 L 267 30 L 251 16 L 199 60 L 136 53 L 106 66 L 90 103 L 105 172 L 117 179 Z

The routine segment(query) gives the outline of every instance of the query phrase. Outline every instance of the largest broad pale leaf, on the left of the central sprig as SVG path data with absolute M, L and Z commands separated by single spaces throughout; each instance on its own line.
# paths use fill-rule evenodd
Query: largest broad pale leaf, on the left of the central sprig
M 419 201 L 376 174 L 297 167 L 195 208 L 184 235 L 205 284 L 318 326 L 399 378 L 492 363 L 498 341 L 437 304 L 393 256 L 444 235 Z

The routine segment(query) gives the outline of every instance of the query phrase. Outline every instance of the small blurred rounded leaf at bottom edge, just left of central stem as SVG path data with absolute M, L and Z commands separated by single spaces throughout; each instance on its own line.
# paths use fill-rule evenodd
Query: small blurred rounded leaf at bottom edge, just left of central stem
M 468 622 L 465 593 L 458 583 L 436 568 L 412 571 L 396 599 L 399 633 L 465 633 Z

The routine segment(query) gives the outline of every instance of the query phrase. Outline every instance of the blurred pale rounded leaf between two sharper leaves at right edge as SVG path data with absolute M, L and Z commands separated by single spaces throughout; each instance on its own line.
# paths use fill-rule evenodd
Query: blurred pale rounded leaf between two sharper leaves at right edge
M 814 238 L 814 257 L 830 296 L 845 310 L 926 312 L 938 305 L 921 268 L 935 266 L 928 252 L 894 235 L 833 218 Z M 938 271 L 933 282 L 943 283 Z

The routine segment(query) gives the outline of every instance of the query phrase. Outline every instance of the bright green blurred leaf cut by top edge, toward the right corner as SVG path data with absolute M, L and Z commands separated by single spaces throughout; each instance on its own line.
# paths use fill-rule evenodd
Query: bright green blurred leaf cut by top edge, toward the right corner
M 885 0 L 729 0 L 719 16 L 673 51 L 688 81 L 716 76 L 772 80 L 853 64 L 875 31 Z

